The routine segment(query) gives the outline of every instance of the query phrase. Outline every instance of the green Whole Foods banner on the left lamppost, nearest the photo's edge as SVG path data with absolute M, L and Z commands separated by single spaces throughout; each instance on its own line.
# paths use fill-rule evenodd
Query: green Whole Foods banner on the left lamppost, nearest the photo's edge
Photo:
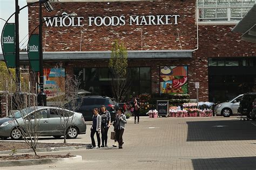
M 15 24 L 7 23 L 3 29 L 2 37 L 3 55 L 6 66 L 9 68 L 16 67 L 15 60 Z

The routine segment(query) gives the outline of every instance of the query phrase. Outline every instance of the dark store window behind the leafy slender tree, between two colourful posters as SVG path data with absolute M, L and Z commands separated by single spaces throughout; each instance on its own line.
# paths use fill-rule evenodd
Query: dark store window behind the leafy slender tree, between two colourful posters
M 129 67 L 127 69 L 129 91 L 127 94 L 151 93 L 151 67 Z M 112 97 L 112 75 L 109 68 L 75 68 L 74 75 L 79 75 L 80 88 L 92 95 Z

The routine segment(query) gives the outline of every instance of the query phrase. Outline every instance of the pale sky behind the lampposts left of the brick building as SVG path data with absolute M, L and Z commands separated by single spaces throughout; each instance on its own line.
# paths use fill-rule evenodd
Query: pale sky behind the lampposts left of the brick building
M 26 5 L 26 0 L 18 0 L 19 8 Z M 15 12 L 15 0 L 0 0 L 0 18 L 7 20 L 12 13 Z M 0 36 L 5 22 L 0 19 Z M 15 22 L 15 15 L 9 20 L 8 23 Z M 28 8 L 24 8 L 19 12 L 19 47 L 27 48 L 28 44 Z M 1 44 L 1 41 L 0 41 Z M 2 47 L 0 47 L 2 53 Z

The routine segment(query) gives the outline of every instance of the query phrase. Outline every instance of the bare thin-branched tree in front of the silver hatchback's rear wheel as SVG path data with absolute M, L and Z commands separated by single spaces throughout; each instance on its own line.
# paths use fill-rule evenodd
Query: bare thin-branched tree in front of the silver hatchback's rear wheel
M 58 64 L 56 70 L 57 69 L 62 69 L 61 63 Z M 64 79 L 59 79 L 62 81 L 59 83 L 62 84 L 62 87 L 57 89 L 55 98 L 52 101 L 53 104 L 59 108 L 56 110 L 56 114 L 60 116 L 60 125 L 64 130 L 64 143 L 66 143 L 66 137 L 71 138 L 78 133 L 77 129 L 72 126 L 73 122 L 75 121 L 72 112 L 65 109 L 75 111 L 82 104 L 82 98 L 78 98 L 78 90 L 80 85 L 79 75 L 74 77 L 62 74 L 58 75 L 58 77 Z

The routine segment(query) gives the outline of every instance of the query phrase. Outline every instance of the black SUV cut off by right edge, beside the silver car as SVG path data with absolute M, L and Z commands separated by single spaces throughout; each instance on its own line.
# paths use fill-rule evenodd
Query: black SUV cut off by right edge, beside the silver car
M 251 118 L 250 112 L 252 111 L 252 103 L 256 98 L 256 93 L 246 93 L 242 96 L 238 111 L 240 114 L 247 116 L 247 118 Z

